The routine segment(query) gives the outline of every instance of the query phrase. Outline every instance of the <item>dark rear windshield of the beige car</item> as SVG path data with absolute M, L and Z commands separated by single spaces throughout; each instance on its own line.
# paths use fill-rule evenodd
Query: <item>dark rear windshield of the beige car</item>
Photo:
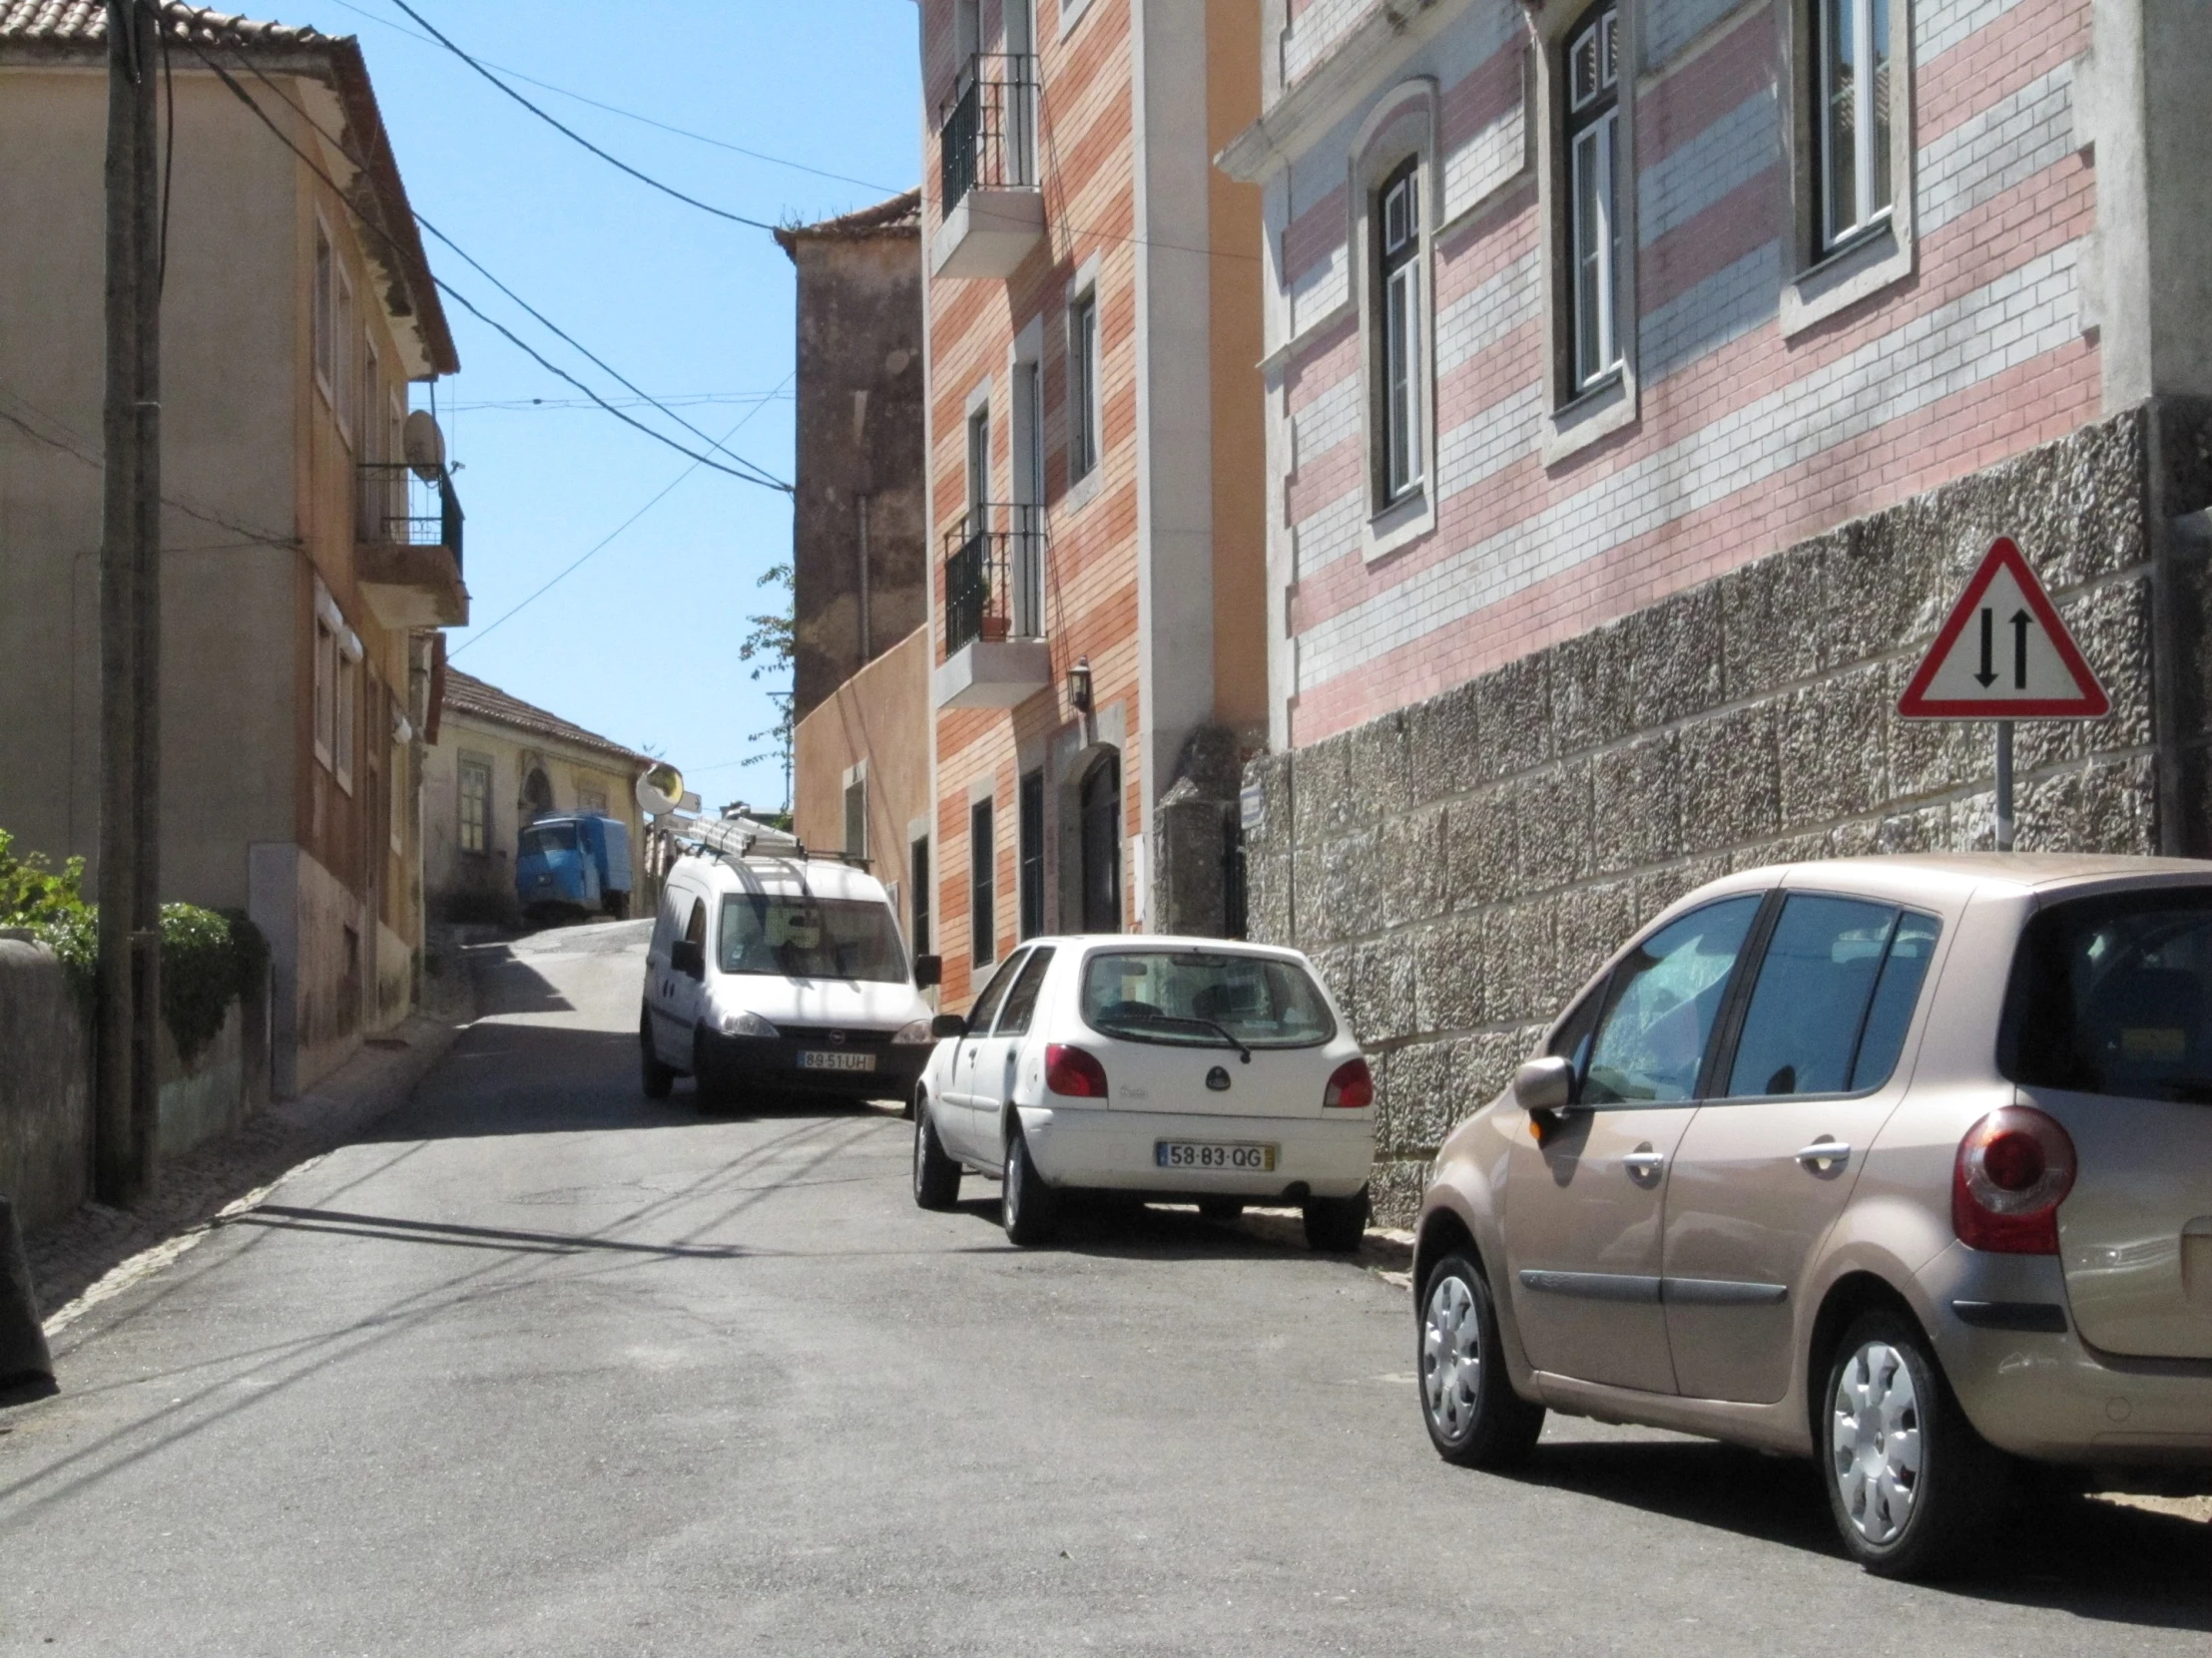
M 2026 1088 L 2212 1103 L 2212 886 L 2108 893 L 2028 922 L 1997 1035 Z

